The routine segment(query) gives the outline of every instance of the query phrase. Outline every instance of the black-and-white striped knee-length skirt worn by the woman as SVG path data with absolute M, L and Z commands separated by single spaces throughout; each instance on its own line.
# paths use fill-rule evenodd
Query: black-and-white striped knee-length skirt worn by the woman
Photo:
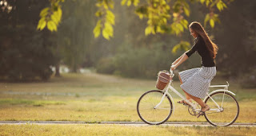
M 216 75 L 216 67 L 192 68 L 178 72 L 182 80 L 182 89 L 198 98 L 205 98 L 209 91 L 210 81 Z

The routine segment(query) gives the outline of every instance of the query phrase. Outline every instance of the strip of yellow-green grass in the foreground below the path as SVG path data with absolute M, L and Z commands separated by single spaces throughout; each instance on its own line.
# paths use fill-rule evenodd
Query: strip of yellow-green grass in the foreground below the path
M 254 127 L 1 125 L 0 135 L 254 135 Z

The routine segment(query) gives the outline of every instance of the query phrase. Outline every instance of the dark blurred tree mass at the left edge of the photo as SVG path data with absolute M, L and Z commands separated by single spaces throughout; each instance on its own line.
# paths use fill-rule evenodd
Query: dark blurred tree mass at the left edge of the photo
M 46 1 L 1 1 L 1 80 L 47 80 L 54 65 L 54 34 L 34 29 Z M 8 8 L 5 8 L 8 6 Z

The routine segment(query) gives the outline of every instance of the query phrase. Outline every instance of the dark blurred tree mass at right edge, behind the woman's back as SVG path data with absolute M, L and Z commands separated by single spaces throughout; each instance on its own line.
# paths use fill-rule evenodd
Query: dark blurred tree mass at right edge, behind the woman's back
M 218 69 L 223 76 L 256 87 L 256 2 L 234 1 L 220 16 L 222 24 L 213 29 L 219 45 Z

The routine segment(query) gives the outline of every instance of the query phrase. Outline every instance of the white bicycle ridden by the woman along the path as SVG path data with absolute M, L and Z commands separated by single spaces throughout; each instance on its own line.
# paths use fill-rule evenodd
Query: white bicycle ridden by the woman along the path
M 174 77 L 172 71 L 170 76 Z M 137 103 L 137 112 L 140 119 L 150 125 L 159 125 L 166 122 L 174 111 L 174 99 L 168 91 L 174 91 L 179 97 L 186 101 L 190 115 L 198 115 L 201 108 L 196 103 L 191 103 L 171 86 L 172 80 L 165 89 L 146 91 Z M 210 111 L 206 111 L 205 118 L 213 126 L 230 126 L 239 115 L 238 101 L 234 98 L 234 93 L 228 90 L 229 84 L 212 85 L 210 87 L 224 87 L 207 93 L 204 102 L 210 106 Z

